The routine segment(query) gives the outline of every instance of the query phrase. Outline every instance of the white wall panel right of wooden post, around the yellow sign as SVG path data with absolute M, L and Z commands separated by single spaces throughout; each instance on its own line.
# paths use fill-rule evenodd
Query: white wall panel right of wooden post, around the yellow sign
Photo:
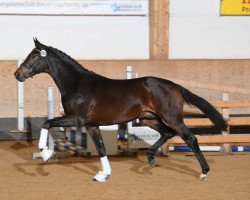
M 250 16 L 220 16 L 220 0 L 170 0 L 170 58 L 250 58 Z

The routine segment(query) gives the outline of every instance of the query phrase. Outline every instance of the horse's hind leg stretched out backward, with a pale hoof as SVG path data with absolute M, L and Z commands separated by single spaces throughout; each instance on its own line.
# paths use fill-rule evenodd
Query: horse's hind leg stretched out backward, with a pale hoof
M 185 143 L 192 149 L 197 160 L 199 161 L 202 169 L 202 174 L 200 176 L 200 180 L 204 180 L 206 178 L 206 174 L 209 171 L 209 166 L 207 164 L 206 159 L 204 158 L 197 138 L 188 130 L 185 124 L 181 123 L 178 126 L 174 126 L 173 129 L 176 131 L 178 135 L 185 141 Z

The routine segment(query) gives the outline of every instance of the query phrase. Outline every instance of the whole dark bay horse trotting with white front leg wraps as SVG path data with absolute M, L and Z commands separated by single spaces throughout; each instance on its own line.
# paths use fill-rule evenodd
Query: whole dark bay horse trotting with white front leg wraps
M 86 127 L 94 141 L 103 170 L 94 179 L 105 181 L 111 174 L 99 126 L 126 123 L 139 119 L 158 131 L 160 139 L 148 150 L 148 162 L 155 165 L 154 154 L 168 139 L 179 135 L 198 159 L 203 180 L 209 166 L 200 151 L 196 137 L 183 122 L 184 102 L 195 105 L 220 129 L 227 124 L 221 114 L 205 99 L 169 80 L 143 77 L 114 80 L 82 67 L 62 51 L 34 39 L 35 48 L 15 72 L 19 81 L 39 73 L 48 73 L 62 96 L 65 115 L 47 120 L 41 130 L 39 148 L 46 161 L 48 130 L 52 127 Z

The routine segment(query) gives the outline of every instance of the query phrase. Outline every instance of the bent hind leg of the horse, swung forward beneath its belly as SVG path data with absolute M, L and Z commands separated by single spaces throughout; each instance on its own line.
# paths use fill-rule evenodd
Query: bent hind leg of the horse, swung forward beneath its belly
M 154 167 L 156 165 L 156 161 L 154 158 L 154 155 L 156 151 L 170 138 L 174 137 L 176 135 L 175 131 L 163 124 L 162 122 L 159 122 L 157 120 L 143 120 L 141 119 L 141 122 L 148 127 L 156 130 L 158 133 L 161 134 L 161 137 L 159 140 L 157 140 L 149 149 L 147 152 L 148 157 L 148 163 L 150 166 Z

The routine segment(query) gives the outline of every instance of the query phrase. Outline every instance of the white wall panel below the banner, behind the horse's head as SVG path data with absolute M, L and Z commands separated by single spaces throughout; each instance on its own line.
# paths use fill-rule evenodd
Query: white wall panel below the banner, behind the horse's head
M 148 59 L 148 16 L 0 15 L 0 59 L 25 58 L 33 37 L 75 59 Z

